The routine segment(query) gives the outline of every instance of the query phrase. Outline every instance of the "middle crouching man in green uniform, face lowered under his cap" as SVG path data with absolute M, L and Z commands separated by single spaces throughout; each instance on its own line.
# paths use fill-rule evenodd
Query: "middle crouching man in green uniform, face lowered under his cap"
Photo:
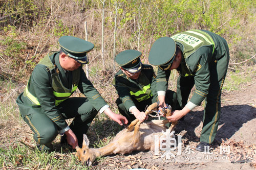
M 151 65 L 141 63 L 141 55 L 136 50 L 125 50 L 115 57 L 120 66 L 114 79 L 114 86 L 119 95 L 116 104 L 119 112 L 129 122 L 135 118 L 143 122 L 146 119 L 146 106 L 158 101 L 154 69 Z M 167 93 L 165 103 L 176 105 L 176 93 L 171 90 L 167 90 Z

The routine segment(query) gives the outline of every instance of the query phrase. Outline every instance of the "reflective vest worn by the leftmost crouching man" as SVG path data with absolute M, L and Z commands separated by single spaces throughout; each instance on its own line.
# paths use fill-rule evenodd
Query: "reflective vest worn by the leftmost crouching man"
M 49 54 L 46 57 L 44 57 L 38 64 L 47 66 L 46 69 L 51 74 L 51 85 L 53 88 L 53 95 L 55 97 L 55 105 L 58 106 L 61 102 L 68 99 L 69 96 L 71 96 L 74 93 L 74 91 L 77 89 L 77 85 L 80 79 L 80 70 L 76 69 L 73 71 L 72 87 L 71 89 L 68 89 L 65 86 L 63 86 L 63 84 L 61 83 L 61 80 L 58 76 L 58 72 L 56 71 L 56 68 L 55 68 L 56 65 L 52 63 Z M 27 98 L 29 98 L 30 101 L 32 101 L 35 105 L 40 105 L 36 96 L 34 96 L 29 92 L 30 79 L 31 77 L 29 78 L 24 95 L 27 96 Z

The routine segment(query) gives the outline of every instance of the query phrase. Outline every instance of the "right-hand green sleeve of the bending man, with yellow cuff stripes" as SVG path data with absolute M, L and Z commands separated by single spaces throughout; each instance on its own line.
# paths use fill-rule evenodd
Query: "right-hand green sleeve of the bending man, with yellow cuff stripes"
M 208 64 L 210 54 L 206 47 L 205 51 L 203 50 L 204 49 L 201 49 L 199 51 L 200 54 L 193 54 L 193 56 L 195 55 L 198 58 L 198 62 L 197 64 L 194 64 L 193 68 L 190 68 L 191 70 L 193 70 L 193 72 L 195 72 L 194 79 L 196 86 L 195 92 L 190 99 L 190 102 L 194 103 L 197 106 L 199 106 L 207 96 L 210 86 L 210 70 Z M 193 58 L 193 56 L 191 56 L 191 58 Z

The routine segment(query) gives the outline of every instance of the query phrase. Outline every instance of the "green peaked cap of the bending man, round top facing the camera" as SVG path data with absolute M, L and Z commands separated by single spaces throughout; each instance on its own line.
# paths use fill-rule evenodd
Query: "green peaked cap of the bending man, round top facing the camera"
M 168 65 L 173 63 L 176 52 L 176 42 L 170 37 L 158 38 L 151 47 L 148 62 L 152 65 Z

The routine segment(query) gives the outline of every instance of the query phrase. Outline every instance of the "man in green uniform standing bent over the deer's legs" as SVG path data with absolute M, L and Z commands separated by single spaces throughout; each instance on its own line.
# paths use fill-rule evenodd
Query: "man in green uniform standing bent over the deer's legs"
M 166 117 L 174 122 L 199 106 L 205 99 L 203 129 L 196 150 L 214 141 L 221 111 L 221 89 L 226 77 L 229 50 L 221 36 L 205 30 L 188 30 L 172 37 L 157 39 L 150 51 L 148 61 L 157 65 L 157 92 L 164 102 L 170 70 L 177 69 L 177 96 L 180 109 Z M 187 102 L 193 86 L 195 92 Z

